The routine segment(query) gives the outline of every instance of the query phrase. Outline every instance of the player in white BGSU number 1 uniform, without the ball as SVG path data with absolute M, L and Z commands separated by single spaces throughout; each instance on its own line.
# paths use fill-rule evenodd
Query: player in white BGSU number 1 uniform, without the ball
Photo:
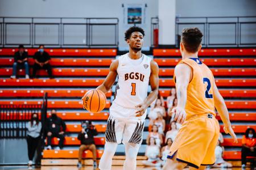
M 106 143 L 100 160 L 100 170 L 111 169 L 112 158 L 119 143 L 125 145 L 126 159 L 123 169 L 136 169 L 146 109 L 158 96 L 159 85 L 157 63 L 141 52 L 143 38 L 142 28 L 134 26 L 126 31 L 125 40 L 129 45 L 129 53 L 112 62 L 104 83 L 97 87 L 97 90 L 108 92 L 118 76 L 115 99 L 110 107 L 105 133 Z M 149 82 L 152 91 L 147 95 Z

